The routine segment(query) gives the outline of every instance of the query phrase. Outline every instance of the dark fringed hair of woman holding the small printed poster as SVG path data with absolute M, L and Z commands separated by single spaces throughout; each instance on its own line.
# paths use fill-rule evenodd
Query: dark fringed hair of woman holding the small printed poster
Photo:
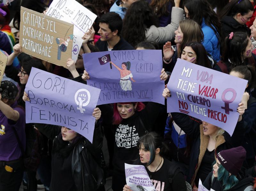
M 150 160 L 148 164 L 146 164 L 147 166 L 155 160 L 157 148 L 160 149 L 159 155 L 161 157 L 165 156 L 168 150 L 166 144 L 163 142 L 163 138 L 156 132 L 150 132 L 140 137 L 137 142 L 137 147 L 140 149 L 142 145 L 144 146 L 144 150 L 150 152 Z

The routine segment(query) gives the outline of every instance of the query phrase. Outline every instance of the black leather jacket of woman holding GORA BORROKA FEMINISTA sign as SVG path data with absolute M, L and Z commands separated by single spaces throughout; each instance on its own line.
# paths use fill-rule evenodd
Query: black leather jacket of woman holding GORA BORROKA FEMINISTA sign
M 53 139 L 52 147 L 58 144 L 60 126 L 38 123 L 35 124 L 35 127 L 49 139 Z M 85 139 L 74 147 L 71 168 L 77 191 L 97 190 L 105 178 L 103 170 L 95 161 L 95 157 L 100 156 L 102 141 L 103 134 L 98 122 L 95 124 L 93 142 Z

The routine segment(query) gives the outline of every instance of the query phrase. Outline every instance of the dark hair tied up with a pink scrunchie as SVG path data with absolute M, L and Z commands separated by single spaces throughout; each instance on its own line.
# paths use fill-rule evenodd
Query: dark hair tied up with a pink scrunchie
M 244 32 L 235 32 L 231 39 L 229 39 L 229 37 L 230 34 L 225 38 L 223 42 L 222 60 L 224 62 L 229 62 L 230 60 L 232 69 L 236 66 L 244 65 L 243 54 L 248 45 L 249 37 Z

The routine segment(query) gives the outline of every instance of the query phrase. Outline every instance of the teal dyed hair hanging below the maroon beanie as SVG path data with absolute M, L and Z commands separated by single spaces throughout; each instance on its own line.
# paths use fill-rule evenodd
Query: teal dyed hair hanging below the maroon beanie
M 216 163 L 216 160 L 215 160 L 215 163 Z M 218 169 L 218 181 L 220 181 L 223 184 L 224 186 L 223 191 L 234 187 L 239 182 L 239 180 L 236 178 L 234 174 L 231 174 L 229 176 L 229 172 L 221 164 Z

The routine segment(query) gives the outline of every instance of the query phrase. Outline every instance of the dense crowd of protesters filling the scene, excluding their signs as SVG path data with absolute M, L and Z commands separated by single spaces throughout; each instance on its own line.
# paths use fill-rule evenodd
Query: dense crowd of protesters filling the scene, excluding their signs
M 254 191 L 256 1 L 76 1 L 97 18 L 80 37 L 78 58 L 69 58 L 67 68 L 25 54 L 19 43 L 20 7 L 46 14 L 52 0 L 0 4 L 0 50 L 8 57 L 0 86 L 0 190 L 18 191 L 22 183 L 23 190 L 36 191 L 38 176 L 45 191 L 103 191 L 108 177 L 112 190 L 131 191 L 127 163 L 144 165 L 157 191 L 197 191 L 199 180 L 208 190 Z M 25 86 L 32 67 L 86 84 L 90 73 L 82 55 L 111 50 L 162 50 L 159 78 L 165 84 L 178 58 L 248 80 L 232 136 L 207 121 L 167 113 L 166 102 L 96 106 L 92 143 L 65 126 L 26 123 Z M 111 64 L 120 73 L 128 67 Z M 171 95 L 165 88 L 159 96 Z M 139 136 L 131 146 L 119 142 L 124 127 L 133 128 L 127 138 Z M 108 148 L 107 166 L 102 148 Z

